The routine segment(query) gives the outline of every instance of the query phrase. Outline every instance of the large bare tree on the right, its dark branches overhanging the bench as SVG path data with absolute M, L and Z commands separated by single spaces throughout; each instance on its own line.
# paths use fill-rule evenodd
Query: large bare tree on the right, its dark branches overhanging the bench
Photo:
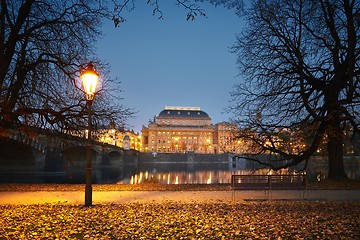
M 326 141 L 328 178 L 346 178 L 343 130 L 359 127 L 360 2 L 258 0 L 246 17 L 233 47 L 244 83 L 230 106 L 249 129 L 242 137 L 275 153 L 265 163 L 274 169 L 307 163 Z M 308 144 L 296 153 L 281 149 L 284 131 Z

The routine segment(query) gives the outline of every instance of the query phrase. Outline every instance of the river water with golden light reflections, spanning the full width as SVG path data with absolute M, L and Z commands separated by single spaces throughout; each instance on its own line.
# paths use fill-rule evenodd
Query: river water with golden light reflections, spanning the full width
M 360 159 L 346 159 L 345 171 L 350 179 L 360 180 Z M 230 183 L 232 174 L 291 174 L 295 169 L 272 171 L 258 169 L 246 160 L 227 162 L 138 162 L 117 165 L 95 165 L 94 184 L 217 184 Z M 299 170 L 301 166 L 298 166 Z M 258 170 L 257 170 L 258 169 Z M 308 181 L 327 178 L 326 159 L 312 159 L 306 169 Z M 0 173 L 2 183 L 85 183 L 85 166 L 67 166 L 57 172 Z

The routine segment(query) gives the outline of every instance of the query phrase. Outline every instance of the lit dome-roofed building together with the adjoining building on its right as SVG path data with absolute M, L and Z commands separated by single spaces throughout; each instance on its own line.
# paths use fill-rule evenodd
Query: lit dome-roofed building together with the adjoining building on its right
M 148 127 L 142 128 L 144 152 L 243 153 L 234 140 L 237 128 L 229 123 L 211 123 L 198 107 L 166 106 Z

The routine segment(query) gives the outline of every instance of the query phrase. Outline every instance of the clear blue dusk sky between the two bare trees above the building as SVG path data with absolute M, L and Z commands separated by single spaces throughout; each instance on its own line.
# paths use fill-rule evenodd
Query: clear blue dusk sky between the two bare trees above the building
M 241 80 L 229 48 L 242 19 L 234 10 L 204 4 L 207 18 L 186 21 L 186 11 L 174 2 L 161 2 L 159 20 L 151 6 L 137 1 L 119 28 L 104 24 L 97 43 L 111 77 L 121 82 L 121 103 L 137 111 L 128 122 L 136 132 L 164 106 L 200 107 L 212 123 L 227 121 L 229 92 Z

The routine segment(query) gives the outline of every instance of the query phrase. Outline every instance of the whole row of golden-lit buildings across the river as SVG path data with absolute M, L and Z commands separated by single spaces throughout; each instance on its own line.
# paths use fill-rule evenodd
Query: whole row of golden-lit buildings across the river
M 87 130 L 68 131 L 86 137 Z M 236 139 L 236 125 L 227 122 L 211 123 L 210 116 L 199 107 L 166 106 L 149 125 L 142 127 L 142 135 L 124 128 L 108 127 L 93 130 L 92 139 L 124 150 L 134 149 L 151 153 L 243 154 L 251 152 L 250 145 Z

